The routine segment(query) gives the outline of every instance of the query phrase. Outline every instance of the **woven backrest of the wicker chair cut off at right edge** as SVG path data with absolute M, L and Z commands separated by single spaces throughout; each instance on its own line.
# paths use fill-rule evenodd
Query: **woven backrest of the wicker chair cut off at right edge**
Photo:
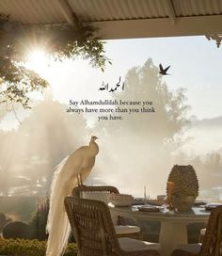
M 222 255 L 222 206 L 217 206 L 211 213 L 206 233 L 203 237 L 199 256 Z

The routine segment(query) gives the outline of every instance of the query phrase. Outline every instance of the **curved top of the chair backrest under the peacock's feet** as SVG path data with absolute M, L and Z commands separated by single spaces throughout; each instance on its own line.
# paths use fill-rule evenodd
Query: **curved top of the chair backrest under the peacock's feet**
M 103 192 L 119 194 L 117 187 L 112 185 L 79 185 L 72 189 L 71 195 L 76 198 L 81 198 L 83 192 Z

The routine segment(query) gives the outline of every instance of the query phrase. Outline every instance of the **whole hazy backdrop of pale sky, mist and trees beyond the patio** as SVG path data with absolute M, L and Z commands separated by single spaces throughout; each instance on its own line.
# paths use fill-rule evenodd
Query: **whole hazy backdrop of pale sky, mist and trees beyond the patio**
M 146 186 L 155 197 L 166 193 L 173 165 L 191 164 L 200 198 L 222 200 L 221 48 L 189 37 L 110 40 L 105 50 L 113 63 L 105 72 L 81 60 L 34 62 L 48 91 L 32 95 L 32 110 L 18 107 L 17 118 L 1 105 L 0 194 L 45 195 L 56 165 L 94 134 L 100 152 L 87 184 L 112 184 L 135 196 Z M 171 65 L 171 75 L 159 75 L 159 63 Z M 123 91 L 99 90 L 119 76 Z M 156 112 L 98 122 L 96 115 L 66 113 L 70 99 L 147 100 Z

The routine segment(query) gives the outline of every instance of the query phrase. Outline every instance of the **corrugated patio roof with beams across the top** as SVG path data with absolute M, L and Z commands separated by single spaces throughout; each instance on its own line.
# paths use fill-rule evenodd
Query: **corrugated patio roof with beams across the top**
M 1 0 L 24 24 L 73 24 L 73 13 L 104 40 L 222 33 L 222 0 Z

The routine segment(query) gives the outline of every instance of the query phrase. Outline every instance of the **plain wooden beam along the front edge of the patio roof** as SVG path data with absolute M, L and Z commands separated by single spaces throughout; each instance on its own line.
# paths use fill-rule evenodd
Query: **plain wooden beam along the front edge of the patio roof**
M 172 25 L 168 18 L 92 22 L 103 40 L 200 36 L 222 34 L 222 15 L 177 17 Z

